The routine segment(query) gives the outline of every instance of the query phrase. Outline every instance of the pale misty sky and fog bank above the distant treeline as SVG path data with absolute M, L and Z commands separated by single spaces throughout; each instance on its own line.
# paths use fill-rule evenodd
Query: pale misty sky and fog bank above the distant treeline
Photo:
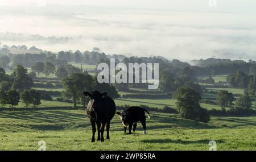
M 254 6 L 252 0 L 217 0 L 214 7 L 208 0 L 1 0 L 0 41 L 53 52 L 98 47 L 110 55 L 184 61 L 256 59 Z

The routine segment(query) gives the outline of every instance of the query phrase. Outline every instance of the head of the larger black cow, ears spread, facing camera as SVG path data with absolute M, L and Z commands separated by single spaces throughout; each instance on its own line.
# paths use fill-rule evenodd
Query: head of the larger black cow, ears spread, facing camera
M 86 97 L 90 97 L 91 98 L 91 104 L 92 104 L 92 108 L 94 110 L 99 110 L 102 107 L 102 98 L 104 98 L 108 93 L 103 92 L 100 93 L 97 90 L 94 90 L 93 92 L 89 93 L 89 92 L 84 92 L 84 95 Z

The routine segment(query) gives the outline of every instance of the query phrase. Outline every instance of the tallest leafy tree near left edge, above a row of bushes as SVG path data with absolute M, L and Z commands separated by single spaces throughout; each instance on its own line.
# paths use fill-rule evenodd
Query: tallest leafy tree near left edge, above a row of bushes
M 13 70 L 11 78 L 14 80 L 13 85 L 11 86 L 12 89 L 30 89 L 33 85 L 32 78 L 27 74 L 27 69 L 21 65 L 18 65 Z

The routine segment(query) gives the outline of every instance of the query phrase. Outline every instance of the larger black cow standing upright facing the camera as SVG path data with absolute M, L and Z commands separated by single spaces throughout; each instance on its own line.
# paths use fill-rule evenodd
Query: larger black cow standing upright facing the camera
M 98 139 L 104 142 L 104 128 L 106 125 L 106 139 L 109 139 L 110 121 L 115 115 L 115 102 L 106 92 L 100 93 L 94 90 L 92 93 L 84 92 L 86 97 L 90 97 L 87 105 L 87 114 L 89 115 L 92 124 L 92 142 L 95 141 L 95 132 L 97 124 Z M 101 136 L 100 136 L 101 133 Z

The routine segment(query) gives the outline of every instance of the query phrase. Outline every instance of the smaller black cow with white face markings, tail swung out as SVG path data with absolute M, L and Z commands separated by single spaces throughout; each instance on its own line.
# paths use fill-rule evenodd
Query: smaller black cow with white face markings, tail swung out
M 133 132 L 135 132 L 137 127 L 137 122 L 141 121 L 143 126 L 143 133 L 146 134 L 146 117 L 145 111 L 147 112 L 147 117 L 150 119 L 150 113 L 142 107 L 132 106 L 126 110 L 122 110 L 121 112 L 117 112 L 119 115 L 123 126 L 126 127 L 129 125 L 129 134 L 131 134 L 131 127 L 133 127 Z

